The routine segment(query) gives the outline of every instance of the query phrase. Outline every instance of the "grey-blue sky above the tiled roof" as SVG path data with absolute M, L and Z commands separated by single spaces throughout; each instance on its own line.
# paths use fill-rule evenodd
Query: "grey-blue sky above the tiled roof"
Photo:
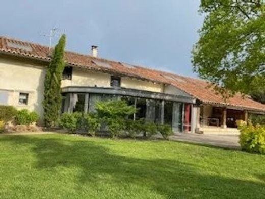
M 0 35 L 49 45 L 67 36 L 66 48 L 99 57 L 197 77 L 191 50 L 203 17 L 200 0 L 12 0 L 0 7 Z

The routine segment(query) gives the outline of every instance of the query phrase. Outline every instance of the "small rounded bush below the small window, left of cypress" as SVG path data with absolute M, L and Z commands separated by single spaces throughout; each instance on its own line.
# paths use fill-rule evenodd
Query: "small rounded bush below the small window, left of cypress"
M 30 112 L 27 109 L 17 111 L 15 121 L 17 125 L 31 125 L 39 120 L 39 116 L 36 112 Z

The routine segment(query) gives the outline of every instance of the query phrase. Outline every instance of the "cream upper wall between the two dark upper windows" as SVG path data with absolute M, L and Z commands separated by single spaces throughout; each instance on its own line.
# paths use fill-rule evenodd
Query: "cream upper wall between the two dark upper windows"
M 63 80 L 62 87 L 95 85 L 97 85 L 97 87 L 110 87 L 110 81 L 110 74 L 73 68 L 72 80 Z

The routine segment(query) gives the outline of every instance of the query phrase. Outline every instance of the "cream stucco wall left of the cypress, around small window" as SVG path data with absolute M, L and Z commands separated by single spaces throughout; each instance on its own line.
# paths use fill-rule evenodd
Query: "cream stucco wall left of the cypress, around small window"
M 34 110 L 42 116 L 44 78 L 44 67 L 0 57 L 0 90 L 8 93 L 8 105 Z M 28 105 L 18 104 L 20 92 L 29 94 Z

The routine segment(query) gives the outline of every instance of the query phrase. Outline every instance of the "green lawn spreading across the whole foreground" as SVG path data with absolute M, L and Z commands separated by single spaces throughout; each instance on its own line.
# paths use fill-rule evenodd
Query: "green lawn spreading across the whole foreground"
M 265 156 L 171 141 L 0 136 L 0 198 L 263 198 Z

